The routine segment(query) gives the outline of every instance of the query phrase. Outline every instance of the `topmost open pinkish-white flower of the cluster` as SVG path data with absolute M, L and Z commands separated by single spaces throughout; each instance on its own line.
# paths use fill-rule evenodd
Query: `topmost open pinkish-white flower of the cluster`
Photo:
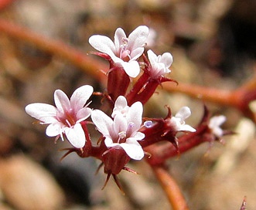
M 90 45 L 100 52 L 111 56 L 114 63 L 120 64 L 128 76 L 136 77 L 140 72 L 137 59 L 142 56 L 148 37 L 148 27 L 138 26 L 127 37 L 125 31 L 118 28 L 114 33 L 114 42 L 107 36 L 90 36 Z

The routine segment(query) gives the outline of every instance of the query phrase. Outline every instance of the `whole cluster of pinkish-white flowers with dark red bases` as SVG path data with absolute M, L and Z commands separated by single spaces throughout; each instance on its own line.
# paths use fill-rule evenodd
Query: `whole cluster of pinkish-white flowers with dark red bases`
M 91 106 L 93 102 L 87 103 L 94 93 L 94 88 L 89 85 L 75 90 L 70 100 L 62 90 L 56 90 L 56 107 L 46 103 L 26 106 L 26 113 L 41 124 L 49 124 L 46 128 L 47 136 L 56 137 L 56 140 L 60 137 L 70 142 L 73 147 L 67 154 L 76 152 L 81 158 L 94 157 L 101 160 L 101 166 L 104 166 L 104 172 L 108 174 L 106 183 L 112 175 L 118 187 L 120 184 L 116 175 L 121 170 L 135 172 L 127 168 L 126 164 L 131 159 L 142 160 L 148 154 L 146 147 L 152 144 L 169 141 L 179 151 L 178 132 L 184 132 L 190 138 L 207 134 L 219 139 L 224 135 L 220 128 L 224 117 L 213 117 L 207 120 L 207 124 L 206 120 L 202 120 L 198 129 L 186 124 L 185 120 L 191 114 L 189 107 L 182 107 L 174 116 L 168 107 L 164 119 L 143 117 L 143 105 L 152 97 L 156 88 L 164 82 L 176 82 L 166 77 L 172 65 L 169 52 L 157 56 L 149 49 L 144 53 L 148 31 L 147 26 L 138 26 L 127 37 L 124 30 L 118 28 L 114 42 L 101 35 L 89 39 L 90 45 L 99 51 L 94 54 L 107 59 L 110 64 L 107 91 L 101 96 L 108 101 L 111 115 L 94 109 Z M 135 77 L 138 79 L 131 83 Z M 87 129 L 90 124 L 101 134 L 97 144 L 90 139 Z M 154 154 L 151 155 L 154 157 Z

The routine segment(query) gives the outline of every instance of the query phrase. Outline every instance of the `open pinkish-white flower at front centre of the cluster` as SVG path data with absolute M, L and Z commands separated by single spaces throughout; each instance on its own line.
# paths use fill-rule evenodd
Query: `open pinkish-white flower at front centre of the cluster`
M 91 119 L 97 130 L 105 137 L 104 143 L 107 147 L 122 147 L 130 158 L 141 160 L 144 151 L 138 141 L 145 137 L 145 134 L 138 132 L 142 125 L 142 103 L 133 103 L 124 114 L 120 107 L 126 107 L 125 101 L 125 97 L 122 96 L 116 100 L 114 119 L 101 110 L 93 110 Z

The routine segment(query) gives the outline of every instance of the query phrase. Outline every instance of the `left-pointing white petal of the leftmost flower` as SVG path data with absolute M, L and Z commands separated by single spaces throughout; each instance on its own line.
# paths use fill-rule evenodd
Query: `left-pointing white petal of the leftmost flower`
M 25 110 L 31 117 L 35 117 L 43 123 L 52 124 L 58 121 L 56 120 L 56 107 L 47 103 L 31 103 L 25 107 Z

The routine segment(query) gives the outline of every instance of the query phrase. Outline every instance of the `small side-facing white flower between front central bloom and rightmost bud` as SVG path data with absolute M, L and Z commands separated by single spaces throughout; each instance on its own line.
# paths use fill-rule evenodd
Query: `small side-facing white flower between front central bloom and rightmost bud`
M 196 129 L 185 124 L 185 119 L 191 115 L 189 107 L 182 107 L 174 117 L 171 117 L 169 124 L 175 127 L 176 131 L 195 132 Z

